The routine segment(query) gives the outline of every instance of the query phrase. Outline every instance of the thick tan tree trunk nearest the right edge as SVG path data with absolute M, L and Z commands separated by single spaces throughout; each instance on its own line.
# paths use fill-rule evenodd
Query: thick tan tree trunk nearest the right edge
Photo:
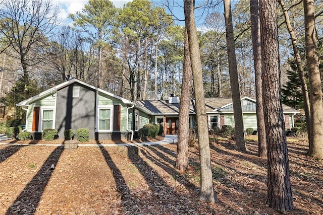
M 308 154 L 323 159 L 322 84 L 316 48 L 314 0 L 304 0 L 305 48 L 310 91 L 310 142 Z

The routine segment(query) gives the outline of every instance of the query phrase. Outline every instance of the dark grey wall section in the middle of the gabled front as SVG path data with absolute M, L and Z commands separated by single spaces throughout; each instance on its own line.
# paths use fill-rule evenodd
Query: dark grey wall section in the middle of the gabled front
M 80 96 L 73 97 L 73 86 L 80 86 Z M 72 84 L 57 92 L 56 123 L 59 138 L 64 139 L 64 131 L 88 128 L 90 139 L 95 138 L 96 92 L 91 88 Z

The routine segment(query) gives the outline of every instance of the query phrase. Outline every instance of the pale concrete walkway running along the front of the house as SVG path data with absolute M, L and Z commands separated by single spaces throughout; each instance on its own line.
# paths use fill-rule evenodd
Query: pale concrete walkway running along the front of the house
M 0 134 L 0 141 L 11 140 L 5 134 Z M 165 135 L 163 140 L 157 142 L 135 142 L 130 144 L 79 144 L 78 147 L 130 147 L 130 146 L 149 146 L 163 145 L 177 142 L 177 135 Z M 64 146 L 59 144 L 11 144 L 10 142 L 0 142 L 0 145 L 24 145 L 24 146 Z

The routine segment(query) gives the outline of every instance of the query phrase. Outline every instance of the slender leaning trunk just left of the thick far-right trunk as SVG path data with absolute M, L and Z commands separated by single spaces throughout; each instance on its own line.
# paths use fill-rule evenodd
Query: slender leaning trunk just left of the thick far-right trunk
M 286 9 L 285 3 L 283 0 L 279 1 L 282 10 L 284 12 L 285 16 L 285 23 L 286 27 L 288 29 L 288 32 L 291 36 L 292 40 L 292 45 L 293 45 L 293 50 L 294 50 L 294 56 L 295 60 L 297 63 L 297 70 L 298 70 L 298 76 L 299 76 L 299 81 L 301 83 L 302 87 L 302 93 L 303 93 L 303 100 L 304 100 L 304 111 L 305 111 L 305 118 L 306 118 L 306 128 L 307 128 L 307 137 L 308 137 L 308 142 L 311 142 L 311 135 L 310 135 L 310 106 L 309 106 L 309 98 L 308 98 L 308 90 L 307 90 L 307 84 L 306 84 L 306 79 L 304 75 L 304 64 L 302 62 L 301 56 L 299 54 L 299 50 L 297 48 L 297 41 L 296 41 L 296 36 L 295 36 L 295 31 L 291 25 L 291 22 L 289 20 L 289 15 L 288 11 Z

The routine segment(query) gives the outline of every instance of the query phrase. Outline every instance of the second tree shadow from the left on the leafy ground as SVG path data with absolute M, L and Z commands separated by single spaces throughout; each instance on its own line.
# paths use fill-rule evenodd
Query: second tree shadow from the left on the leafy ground
M 121 195 L 122 205 L 125 210 L 124 212 L 132 211 L 133 214 L 140 214 L 140 208 L 138 208 L 139 201 L 130 193 L 130 189 L 126 183 L 125 178 L 122 176 L 121 171 L 111 159 L 109 152 L 107 152 L 104 147 L 99 148 L 107 166 L 109 166 L 109 168 L 111 169 L 111 172 L 115 179 L 118 192 Z

